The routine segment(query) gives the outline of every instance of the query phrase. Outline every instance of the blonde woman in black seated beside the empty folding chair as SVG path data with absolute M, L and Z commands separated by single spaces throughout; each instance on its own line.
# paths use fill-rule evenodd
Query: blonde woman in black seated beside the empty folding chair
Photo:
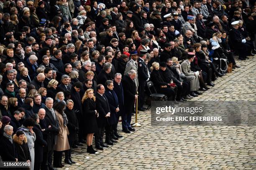
M 161 75 L 159 74 L 159 63 L 153 62 L 151 69 L 151 75 L 150 79 L 154 83 L 154 87 L 156 88 L 156 91 L 164 94 L 168 97 L 168 101 L 174 101 L 175 100 L 175 92 L 171 88 L 171 86 L 164 82 L 164 80 L 161 78 Z

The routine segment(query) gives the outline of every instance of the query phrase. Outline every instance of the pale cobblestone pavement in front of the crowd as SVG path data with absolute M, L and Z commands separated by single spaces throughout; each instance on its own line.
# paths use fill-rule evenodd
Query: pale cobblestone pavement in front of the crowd
M 256 57 L 235 69 L 193 100 L 251 100 L 256 97 Z M 151 112 L 138 115 L 141 128 L 97 155 L 75 149 L 77 162 L 64 169 L 255 170 L 256 127 L 151 127 Z M 119 126 L 120 129 L 120 126 Z

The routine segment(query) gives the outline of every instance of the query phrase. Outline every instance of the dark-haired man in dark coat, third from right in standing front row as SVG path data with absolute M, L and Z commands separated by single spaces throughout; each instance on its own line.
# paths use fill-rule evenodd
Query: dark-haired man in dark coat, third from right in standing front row
M 115 125 L 118 123 L 118 97 L 113 90 L 114 84 L 112 80 L 107 80 L 105 85 L 107 86 L 107 88 L 104 94 L 108 98 L 108 103 L 110 107 L 110 117 L 108 117 L 108 124 L 110 125 L 110 140 L 118 140 L 118 138 L 114 135 Z

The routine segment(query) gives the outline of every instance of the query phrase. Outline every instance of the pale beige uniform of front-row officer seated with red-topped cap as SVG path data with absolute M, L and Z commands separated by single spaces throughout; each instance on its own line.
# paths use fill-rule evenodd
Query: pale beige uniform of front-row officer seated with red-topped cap
M 182 72 L 186 75 L 186 79 L 190 81 L 190 91 L 196 91 L 200 88 L 198 76 L 190 70 L 190 62 L 185 60 L 181 63 Z

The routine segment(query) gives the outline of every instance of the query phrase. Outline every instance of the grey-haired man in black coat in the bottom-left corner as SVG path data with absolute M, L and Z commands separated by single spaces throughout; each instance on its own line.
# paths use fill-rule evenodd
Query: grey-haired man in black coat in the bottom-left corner
M 6 125 L 4 128 L 3 137 L 0 139 L 0 156 L 3 161 L 18 162 L 12 135 L 13 127 L 11 125 Z

